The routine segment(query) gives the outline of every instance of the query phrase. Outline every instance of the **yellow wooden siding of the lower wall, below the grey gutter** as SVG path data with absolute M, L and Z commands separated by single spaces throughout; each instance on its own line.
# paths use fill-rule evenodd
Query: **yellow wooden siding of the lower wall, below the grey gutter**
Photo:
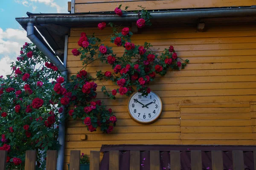
M 81 121 L 70 120 L 66 129 L 66 158 L 71 149 L 90 154 L 102 144 L 256 144 L 256 25 L 209 26 L 206 32 L 194 27 L 145 28 L 135 34 L 133 42 L 147 41 L 157 48 L 174 45 L 179 57 L 191 63 L 181 71 L 169 71 L 157 76 L 150 88 L 160 95 L 163 113 L 156 122 L 140 125 L 128 115 L 128 97 L 117 95 L 110 100 L 100 91 L 117 88 L 111 82 L 98 82 L 97 99 L 104 100 L 118 119 L 111 134 L 99 129 L 90 133 Z M 246 30 L 246 31 L 244 31 Z M 72 55 L 78 48 L 80 33 L 99 35 L 105 39 L 109 28 L 72 28 L 67 69 L 69 76 L 82 67 L 79 57 Z M 163 34 L 165 33 L 165 34 Z M 113 46 L 117 54 L 122 47 Z M 156 48 L 154 48 L 156 49 Z M 111 71 L 111 67 L 95 62 L 86 69 L 92 76 L 96 71 Z M 81 135 L 87 135 L 81 140 Z

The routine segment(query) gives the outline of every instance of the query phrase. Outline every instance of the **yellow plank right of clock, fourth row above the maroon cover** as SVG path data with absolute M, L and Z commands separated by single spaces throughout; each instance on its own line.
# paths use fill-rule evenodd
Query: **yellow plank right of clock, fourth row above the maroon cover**
M 250 120 L 180 120 L 180 126 L 250 126 Z

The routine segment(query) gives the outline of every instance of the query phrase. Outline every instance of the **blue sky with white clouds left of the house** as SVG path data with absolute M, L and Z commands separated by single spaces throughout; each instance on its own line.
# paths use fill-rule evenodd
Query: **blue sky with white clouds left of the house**
M 71 0 L 0 0 L 0 75 L 10 74 L 9 63 L 14 61 L 26 38 L 26 31 L 15 20 L 31 13 L 67 13 Z

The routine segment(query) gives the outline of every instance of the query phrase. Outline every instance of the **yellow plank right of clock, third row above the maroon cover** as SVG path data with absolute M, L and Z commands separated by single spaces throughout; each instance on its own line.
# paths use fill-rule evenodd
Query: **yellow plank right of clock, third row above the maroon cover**
M 181 133 L 252 133 L 250 126 L 182 126 L 180 127 Z

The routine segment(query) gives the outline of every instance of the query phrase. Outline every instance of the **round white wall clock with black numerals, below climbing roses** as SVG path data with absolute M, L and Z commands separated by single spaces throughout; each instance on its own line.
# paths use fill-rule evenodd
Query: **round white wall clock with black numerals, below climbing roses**
M 152 91 L 148 96 L 142 96 L 141 93 L 135 92 L 128 101 L 131 118 L 141 124 L 150 124 L 156 121 L 162 108 L 160 97 Z

